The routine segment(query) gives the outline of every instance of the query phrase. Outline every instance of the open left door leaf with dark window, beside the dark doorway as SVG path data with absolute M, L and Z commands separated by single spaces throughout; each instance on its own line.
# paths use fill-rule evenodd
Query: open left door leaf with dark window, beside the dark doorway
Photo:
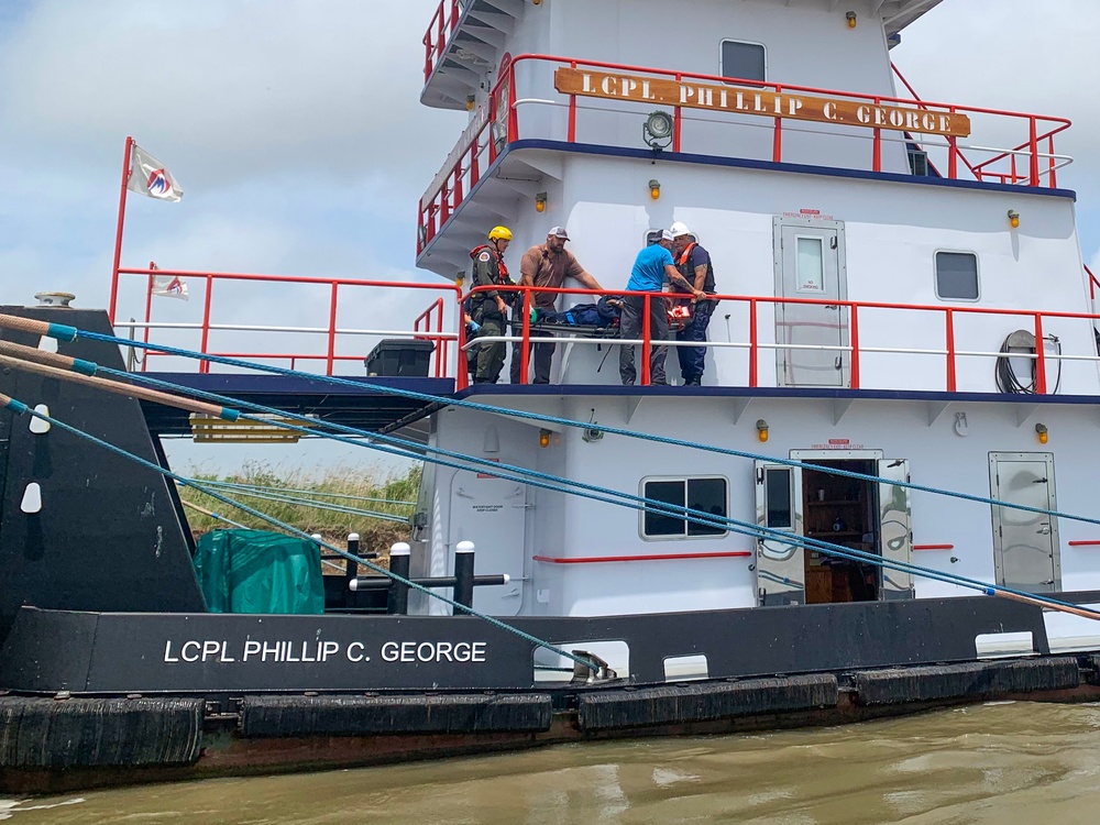
M 802 472 L 781 464 L 756 463 L 757 597 L 761 605 L 806 603 L 805 550 L 778 534 L 802 537 Z

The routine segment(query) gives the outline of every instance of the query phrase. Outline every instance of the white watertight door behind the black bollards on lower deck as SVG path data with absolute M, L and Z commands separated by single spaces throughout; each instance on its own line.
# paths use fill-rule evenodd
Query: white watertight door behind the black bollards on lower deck
M 448 575 L 454 574 L 454 548 L 474 542 L 476 575 L 507 573 L 505 585 L 474 587 L 474 609 L 491 616 L 516 616 L 522 607 L 527 493 L 524 485 L 486 473 L 460 471 L 451 486 Z

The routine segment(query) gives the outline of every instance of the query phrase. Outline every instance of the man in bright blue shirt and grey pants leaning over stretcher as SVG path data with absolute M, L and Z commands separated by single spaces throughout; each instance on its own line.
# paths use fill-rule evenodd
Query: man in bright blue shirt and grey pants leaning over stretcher
M 692 293 L 696 298 L 704 296 L 701 289 L 688 282 L 676 270 L 672 260 L 672 233 L 661 232 L 661 239 L 652 246 L 647 246 L 638 253 L 627 282 L 628 293 L 659 293 L 664 288 L 668 278 L 672 284 Z M 638 340 L 642 332 L 642 317 L 646 311 L 645 295 L 627 295 L 623 299 L 623 315 L 619 320 L 619 337 L 624 340 Z M 649 299 L 649 338 L 650 341 L 664 341 L 669 337 L 669 316 L 664 298 L 652 296 Z M 668 384 L 664 378 L 664 358 L 668 346 L 650 345 L 649 382 L 650 384 Z M 634 345 L 619 346 L 619 377 L 623 384 L 631 386 L 638 374 L 634 365 Z

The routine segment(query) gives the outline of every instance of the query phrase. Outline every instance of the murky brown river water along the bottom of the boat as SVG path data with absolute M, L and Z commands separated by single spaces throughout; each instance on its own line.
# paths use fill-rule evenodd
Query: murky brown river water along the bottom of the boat
M 12 825 L 1058 823 L 1100 817 L 1100 705 L 0 801 Z

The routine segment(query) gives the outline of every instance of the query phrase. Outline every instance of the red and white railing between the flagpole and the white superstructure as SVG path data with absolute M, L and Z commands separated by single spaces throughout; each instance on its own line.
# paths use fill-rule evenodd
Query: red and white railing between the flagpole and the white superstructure
M 152 324 L 151 321 L 151 308 L 152 308 L 152 283 L 154 275 L 167 275 L 172 277 L 178 277 L 189 284 L 204 284 L 204 297 L 202 297 L 202 320 L 199 323 L 180 323 L 180 324 L 163 324 L 167 328 L 175 329 L 186 329 L 191 331 L 197 331 L 200 337 L 199 352 L 205 355 L 218 355 L 221 358 L 235 358 L 235 359 L 249 359 L 255 361 L 270 361 L 270 360 L 286 360 L 292 364 L 296 364 L 298 361 L 323 361 L 324 362 L 324 374 L 332 375 L 333 367 L 338 362 L 343 361 L 362 361 L 363 354 L 356 355 L 339 355 L 337 354 L 337 338 L 339 336 L 348 334 L 362 334 L 362 336 L 376 336 L 383 337 L 384 334 L 397 334 L 392 331 L 341 331 L 337 326 L 338 318 L 338 306 L 340 300 L 340 290 L 345 292 L 352 287 L 367 287 L 376 289 L 386 290 L 431 290 L 436 293 L 442 293 L 442 296 L 432 302 L 432 305 L 414 321 L 413 330 L 409 333 L 409 338 L 417 338 L 422 340 L 430 340 L 437 342 L 436 351 L 436 377 L 449 377 L 449 366 L 450 360 L 448 358 L 449 351 L 447 343 L 453 340 L 455 336 L 453 333 L 443 332 L 443 310 L 447 301 L 444 297 L 450 295 L 452 299 L 459 298 L 461 296 L 461 289 L 454 284 L 408 284 L 408 283 L 393 283 L 385 280 L 362 280 L 355 278 L 312 278 L 299 275 L 260 275 L 253 273 L 227 273 L 227 272 L 184 272 L 174 270 L 163 270 L 151 265 L 148 268 L 120 268 L 120 275 L 141 275 L 145 277 L 148 285 L 148 292 L 145 297 L 145 324 L 143 337 L 144 340 L 148 340 L 148 328 Z M 328 306 L 327 306 L 327 323 L 324 327 L 318 327 L 310 329 L 308 331 L 301 328 L 278 328 L 278 327 L 249 327 L 245 324 L 235 324 L 239 329 L 237 331 L 260 331 L 260 332 L 305 332 L 307 334 L 323 334 L 324 336 L 324 352 L 286 352 L 286 353 L 271 353 L 271 352 L 227 352 L 212 350 L 210 346 L 210 333 L 219 331 L 233 331 L 234 324 L 213 324 L 211 322 L 211 314 L 213 307 L 213 285 L 215 282 L 246 282 L 253 284 L 295 284 L 300 286 L 312 286 L 312 287 L 323 287 L 328 290 Z M 112 294 L 118 295 L 118 283 L 112 284 Z M 461 302 L 461 301 L 458 301 Z M 125 323 L 119 323 L 116 318 L 117 307 L 112 306 L 110 308 L 110 319 L 112 323 L 117 326 L 127 326 Z M 436 320 L 436 330 L 431 329 L 431 320 Z M 424 323 L 424 329 L 420 329 L 420 324 Z M 154 324 L 155 326 L 155 324 Z M 460 324 L 461 329 L 461 324 Z M 148 355 L 161 355 L 163 353 L 156 353 L 154 351 L 146 351 L 146 358 Z M 292 367 L 293 369 L 293 367 Z M 210 372 L 209 362 L 201 362 L 199 366 L 199 372 Z M 465 375 L 464 371 L 459 371 L 459 375 Z

